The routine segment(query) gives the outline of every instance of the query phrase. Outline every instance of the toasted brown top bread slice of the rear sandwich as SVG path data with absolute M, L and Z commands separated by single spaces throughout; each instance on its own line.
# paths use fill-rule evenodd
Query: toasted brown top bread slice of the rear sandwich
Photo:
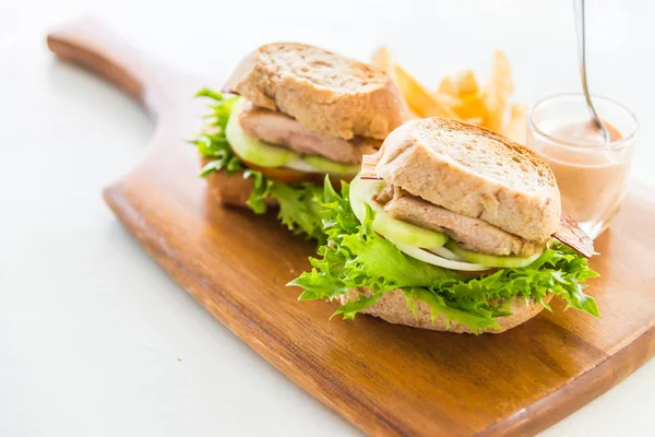
M 315 132 L 346 140 L 383 140 L 408 117 L 405 101 L 384 72 L 305 44 L 260 47 L 239 63 L 227 88 Z

